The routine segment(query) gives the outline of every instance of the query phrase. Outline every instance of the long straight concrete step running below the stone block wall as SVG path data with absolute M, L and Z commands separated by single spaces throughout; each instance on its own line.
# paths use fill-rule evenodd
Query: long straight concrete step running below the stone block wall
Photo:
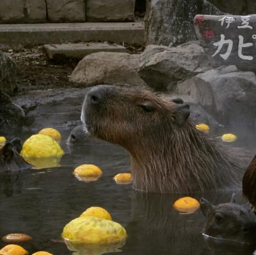
M 144 43 L 143 22 L 0 24 L 0 49 L 68 42 Z

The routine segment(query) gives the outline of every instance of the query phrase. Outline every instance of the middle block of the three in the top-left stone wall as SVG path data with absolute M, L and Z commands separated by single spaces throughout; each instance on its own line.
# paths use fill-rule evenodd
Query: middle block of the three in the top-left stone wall
M 51 22 L 84 22 L 86 7 L 83 0 L 46 0 Z

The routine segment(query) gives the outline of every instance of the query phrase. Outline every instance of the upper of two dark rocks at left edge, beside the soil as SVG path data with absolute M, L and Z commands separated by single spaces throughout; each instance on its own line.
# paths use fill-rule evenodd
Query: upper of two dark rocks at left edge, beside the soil
M 4 54 L 0 54 L 0 91 L 13 95 L 17 91 L 17 73 L 19 67 Z

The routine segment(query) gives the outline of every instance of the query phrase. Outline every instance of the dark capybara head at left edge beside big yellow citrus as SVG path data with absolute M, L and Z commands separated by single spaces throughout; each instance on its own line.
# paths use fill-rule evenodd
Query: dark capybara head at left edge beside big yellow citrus
M 28 169 L 32 167 L 21 157 L 21 150 L 22 144 L 19 138 L 13 139 L 0 148 L 0 172 Z

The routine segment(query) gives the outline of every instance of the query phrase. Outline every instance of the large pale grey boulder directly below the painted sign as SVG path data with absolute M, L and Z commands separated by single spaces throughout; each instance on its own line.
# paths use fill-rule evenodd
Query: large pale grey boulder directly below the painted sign
M 256 116 L 256 75 L 236 66 L 200 73 L 178 84 L 178 95 L 200 104 L 219 123 L 233 130 L 253 128 Z

